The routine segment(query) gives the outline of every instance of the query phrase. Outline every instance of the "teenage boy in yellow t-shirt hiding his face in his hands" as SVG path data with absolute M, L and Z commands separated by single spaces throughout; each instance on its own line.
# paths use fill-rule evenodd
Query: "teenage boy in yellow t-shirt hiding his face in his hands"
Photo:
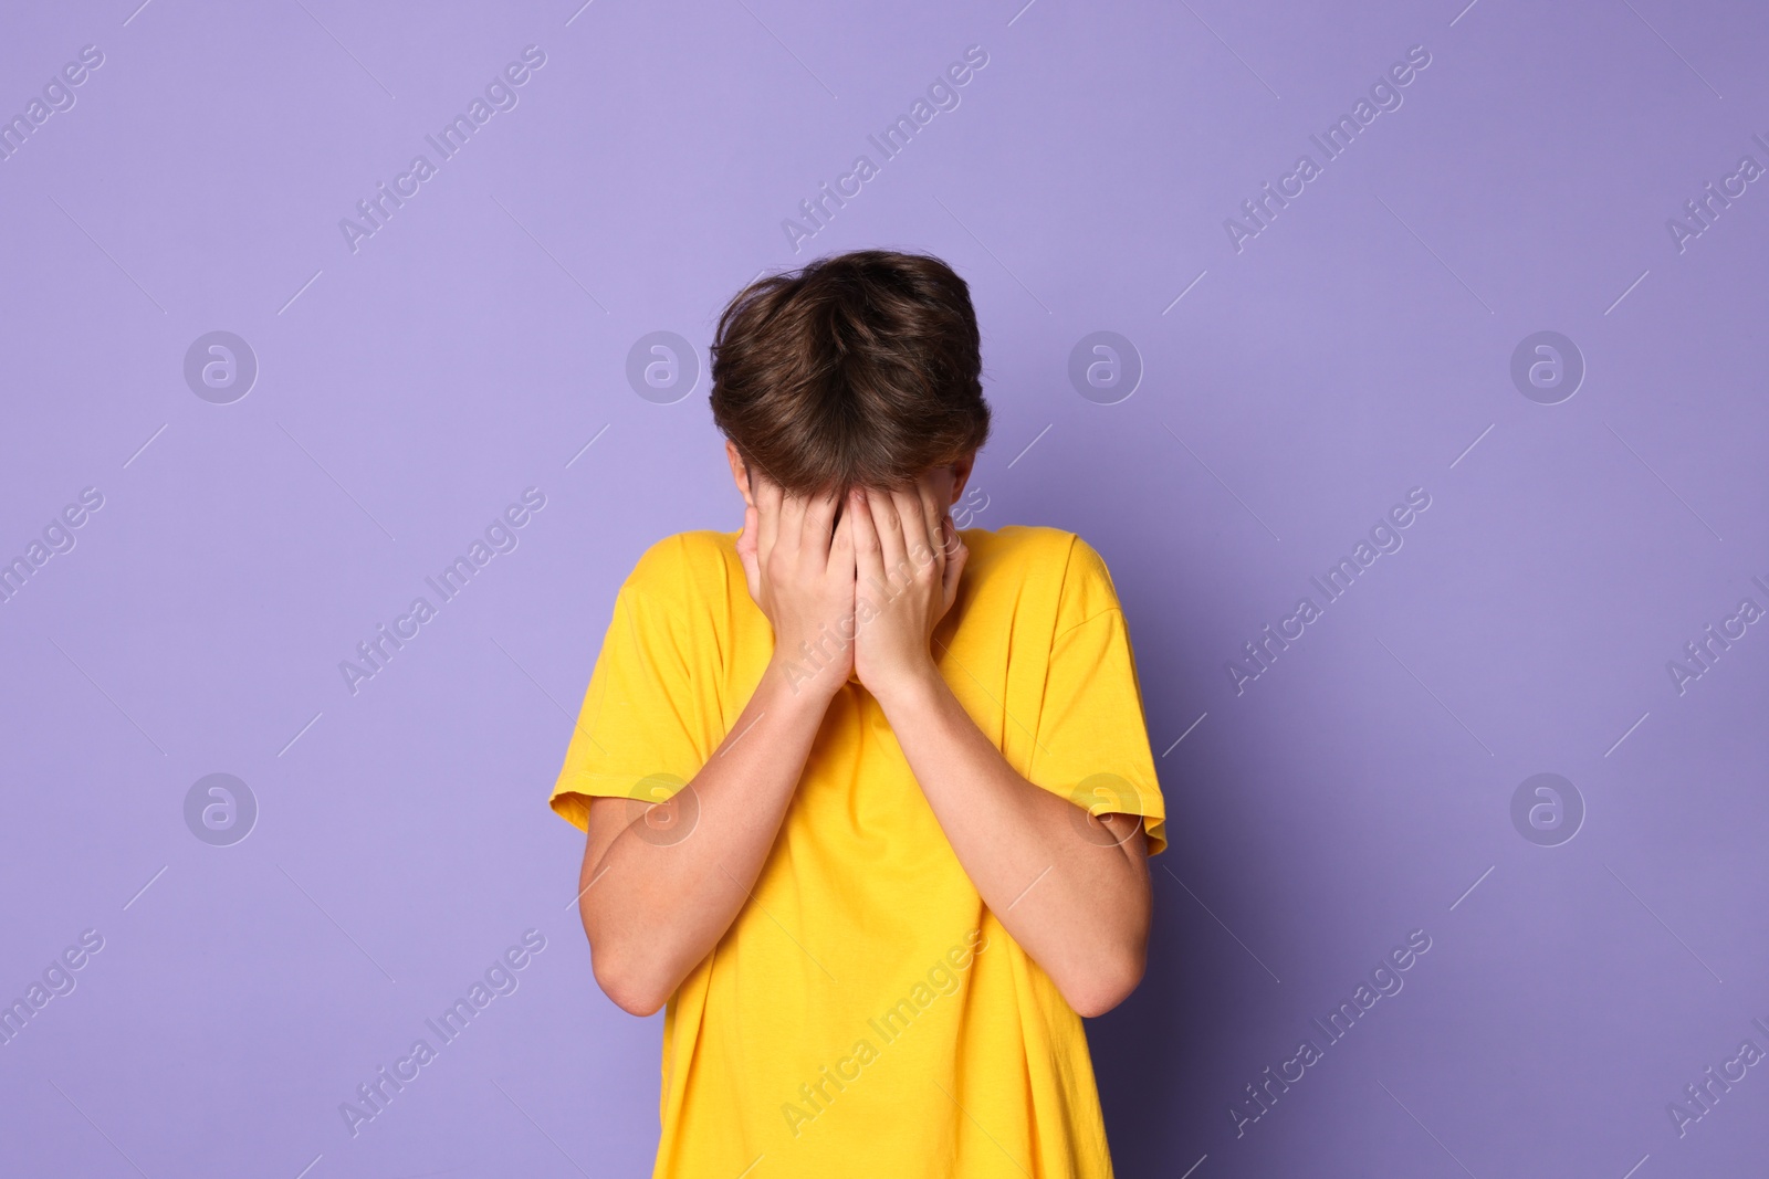
M 1130 636 L 1070 532 L 959 530 L 969 290 L 860 251 L 713 343 L 739 532 L 623 583 L 552 792 L 601 990 L 663 1015 L 655 1175 L 1111 1175 L 1081 1016 L 1166 847 Z

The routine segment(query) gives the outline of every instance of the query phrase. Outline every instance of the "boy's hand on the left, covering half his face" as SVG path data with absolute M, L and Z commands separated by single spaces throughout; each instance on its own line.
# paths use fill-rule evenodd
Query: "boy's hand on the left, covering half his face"
M 752 483 L 738 557 L 750 597 L 773 624 L 773 663 L 796 688 L 833 696 L 854 666 L 854 539 L 851 513 L 835 521 L 837 498 L 784 495 L 766 479 Z M 805 643 L 814 659 L 805 658 Z M 785 665 L 796 665 L 796 672 Z

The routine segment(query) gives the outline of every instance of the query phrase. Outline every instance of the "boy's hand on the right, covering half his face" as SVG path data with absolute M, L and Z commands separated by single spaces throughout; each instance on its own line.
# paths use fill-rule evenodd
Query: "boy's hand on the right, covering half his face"
M 854 675 L 877 698 L 938 677 L 930 640 L 959 596 L 969 550 L 932 490 L 856 490 Z

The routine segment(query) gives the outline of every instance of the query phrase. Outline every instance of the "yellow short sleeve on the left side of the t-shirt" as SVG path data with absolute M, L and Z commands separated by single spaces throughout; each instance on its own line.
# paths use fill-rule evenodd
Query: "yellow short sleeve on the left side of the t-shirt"
M 578 829 L 593 797 L 660 802 L 709 757 L 699 719 L 686 615 L 667 592 L 665 551 L 655 546 L 614 599 L 596 668 L 584 693 L 564 765 L 548 804 Z M 660 576 L 663 573 L 665 576 Z M 699 688 L 706 688 L 701 684 Z

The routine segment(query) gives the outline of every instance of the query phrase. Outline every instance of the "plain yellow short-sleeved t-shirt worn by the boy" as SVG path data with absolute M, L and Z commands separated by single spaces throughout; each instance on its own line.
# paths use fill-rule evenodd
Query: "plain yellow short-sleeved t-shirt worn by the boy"
M 962 536 L 934 633 L 946 684 L 1024 778 L 1143 815 L 1159 852 L 1104 560 L 1056 529 Z M 552 792 L 563 818 L 584 827 L 589 795 L 669 797 L 743 711 L 773 631 L 736 539 L 665 537 L 621 587 Z M 653 834 L 692 840 L 690 822 Z M 1081 1016 L 984 907 L 858 682 L 830 704 L 752 901 L 665 1008 L 660 1112 L 656 1179 L 1111 1175 Z

